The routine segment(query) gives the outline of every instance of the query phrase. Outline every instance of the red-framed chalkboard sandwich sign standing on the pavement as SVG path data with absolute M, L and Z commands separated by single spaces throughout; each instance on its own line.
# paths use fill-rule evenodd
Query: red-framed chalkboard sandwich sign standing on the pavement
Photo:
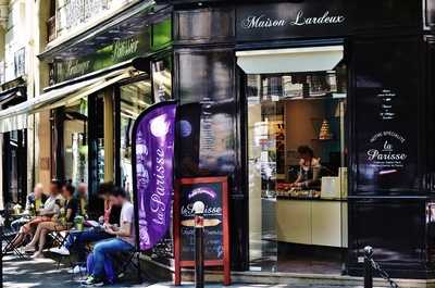
M 224 266 L 224 284 L 229 285 L 229 228 L 227 177 L 183 178 L 174 197 L 175 285 L 181 267 L 195 266 L 194 203 L 204 203 L 204 264 Z

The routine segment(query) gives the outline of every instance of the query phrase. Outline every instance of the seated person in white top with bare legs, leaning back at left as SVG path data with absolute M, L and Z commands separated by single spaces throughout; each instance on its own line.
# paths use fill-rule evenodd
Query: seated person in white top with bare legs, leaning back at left
M 42 222 L 49 222 L 59 213 L 59 205 L 57 202 L 62 200 L 61 196 L 62 184 L 60 180 L 51 180 L 50 197 L 44 203 L 44 208 L 39 209 L 39 215 L 23 225 L 12 241 L 11 249 L 17 248 L 24 243 L 27 237 L 30 237 L 36 227 Z

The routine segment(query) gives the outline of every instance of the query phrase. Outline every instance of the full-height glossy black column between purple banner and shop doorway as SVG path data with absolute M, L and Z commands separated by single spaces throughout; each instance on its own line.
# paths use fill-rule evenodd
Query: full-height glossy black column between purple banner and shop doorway
M 233 270 L 246 270 L 248 197 L 244 189 L 241 104 L 234 52 L 234 9 L 174 14 L 174 93 L 191 136 L 177 139 L 177 177 L 228 176 Z

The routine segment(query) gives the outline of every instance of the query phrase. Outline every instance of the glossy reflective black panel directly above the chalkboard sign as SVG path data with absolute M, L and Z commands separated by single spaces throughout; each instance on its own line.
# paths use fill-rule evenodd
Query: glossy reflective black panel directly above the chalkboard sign
M 178 53 L 183 135 L 181 176 L 236 177 L 236 114 L 232 50 Z M 195 133 L 196 132 L 196 133 Z M 234 184 L 237 181 L 234 180 Z

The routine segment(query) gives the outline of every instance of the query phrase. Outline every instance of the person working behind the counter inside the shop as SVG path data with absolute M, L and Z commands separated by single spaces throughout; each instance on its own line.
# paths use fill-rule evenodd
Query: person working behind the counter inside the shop
M 318 188 L 321 177 L 320 159 L 314 158 L 313 150 L 308 146 L 299 146 L 298 154 L 300 168 L 298 178 L 291 184 L 291 187 L 300 189 Z

